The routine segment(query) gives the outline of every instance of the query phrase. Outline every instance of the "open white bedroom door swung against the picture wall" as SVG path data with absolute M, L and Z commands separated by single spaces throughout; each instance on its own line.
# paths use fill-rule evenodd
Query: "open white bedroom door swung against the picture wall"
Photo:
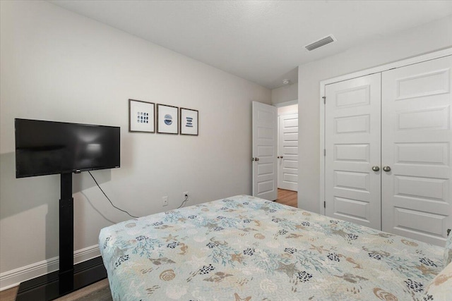
M 275 106 L 253 102 L 253 195 L 274 201 L 278 198 L 276 148 L 278 111 Z

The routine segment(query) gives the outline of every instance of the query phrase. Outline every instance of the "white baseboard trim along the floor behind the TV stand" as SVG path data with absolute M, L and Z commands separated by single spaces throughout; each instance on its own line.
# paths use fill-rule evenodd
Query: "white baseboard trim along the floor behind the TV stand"
M 100 256 L 99 246 L 93 245 L 73 252 L 73 263 L 79 264 L 89 259 Z M 53 257 L 42 262 L 22 266 L 18 269 L 6 271 L 0 274 L 0 291 L 7 290 L 19 285 L 23 281 L 28 281 L 45 274 L 58 271 L 59 257 Z

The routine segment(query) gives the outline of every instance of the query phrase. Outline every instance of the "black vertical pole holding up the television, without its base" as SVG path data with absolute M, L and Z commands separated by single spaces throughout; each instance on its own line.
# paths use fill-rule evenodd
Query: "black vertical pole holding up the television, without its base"
M 73 290 L 73 197 L 72 173 L 61 173 L 59 199 L 59 292 Z

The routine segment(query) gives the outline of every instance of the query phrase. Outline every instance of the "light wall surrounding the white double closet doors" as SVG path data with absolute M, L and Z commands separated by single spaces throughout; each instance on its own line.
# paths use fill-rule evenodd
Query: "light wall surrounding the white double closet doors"
M 314 212 L 320 209 L 319 82 L 451 46 L 452 16 L 449 16 L 299 66 L 299 208 Z

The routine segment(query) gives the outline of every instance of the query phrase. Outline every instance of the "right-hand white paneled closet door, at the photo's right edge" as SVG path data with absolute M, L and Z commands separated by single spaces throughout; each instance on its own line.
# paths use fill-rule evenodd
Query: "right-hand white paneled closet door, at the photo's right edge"
M 383 231 L 444 246 L 452 228 L 452 56 L 383 72 Z

